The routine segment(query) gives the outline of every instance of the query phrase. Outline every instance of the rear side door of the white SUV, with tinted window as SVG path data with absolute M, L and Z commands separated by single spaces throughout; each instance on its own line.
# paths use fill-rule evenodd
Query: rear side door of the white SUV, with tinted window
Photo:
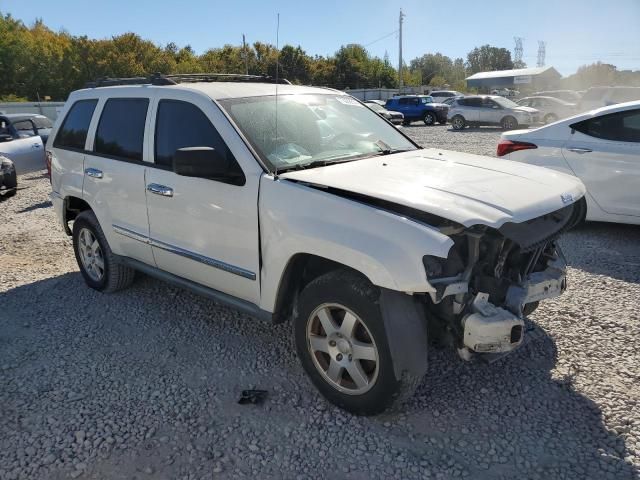
M 123 90 L 99 101 L 87 138 L 83 195 L 115 254 L 154 265 L 143 162 L 149 92 Z

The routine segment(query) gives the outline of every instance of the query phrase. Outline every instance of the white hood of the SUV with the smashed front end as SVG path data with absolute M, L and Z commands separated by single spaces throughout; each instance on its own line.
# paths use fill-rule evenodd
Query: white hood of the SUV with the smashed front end
M 379 198 L 467 227 L 524 222 L 585 193 L 580 180 L 560 172 L 438 149 L 289 171 L 280 178 Z

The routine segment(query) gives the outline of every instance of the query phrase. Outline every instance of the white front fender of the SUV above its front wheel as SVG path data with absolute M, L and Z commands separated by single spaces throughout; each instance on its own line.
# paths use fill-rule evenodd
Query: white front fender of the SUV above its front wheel
M 401 292 L 432 292 L 422 257 L 446 258 L 453 241 L 400 215 L 290 180 L 260 185 L 261 308 L 273 311 L 280 279 L 296 254 L 347 265 L 371 283 Z

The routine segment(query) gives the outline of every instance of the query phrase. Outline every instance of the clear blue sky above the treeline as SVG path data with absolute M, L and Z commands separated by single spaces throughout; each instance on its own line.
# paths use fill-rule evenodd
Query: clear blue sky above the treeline
M 524 37 L 524 60 L 535 66 L 538 40 L 546 41 L 546 64 L 568 75 L 603 61 L 640 70 L 640 0 L 0 0 L 0 11 L 25 23 L 43 18 L 73 35 L 108 38 L 133 31 L 156 43 L 191 45 L 197 53 L 225 43 L 276 40 L 300 44 L 309 54 L 330 55 L 342 44 L 360 43 L 385 52 L 397 65 L 400 7 L 406 13 L 404 58 L 440 52 L 463 57 L 489 43 L 513 53 Z M 378 41 L 376 41 L 378 40 Z

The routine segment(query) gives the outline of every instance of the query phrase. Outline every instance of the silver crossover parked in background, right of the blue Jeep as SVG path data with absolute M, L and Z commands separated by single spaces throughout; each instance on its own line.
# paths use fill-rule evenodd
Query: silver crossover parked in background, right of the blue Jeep
M 496 95 L 472 95 L 456 99 L 449 109 L 449 121 L 454 130 L 468 126 L 498 125 L 505 130 L 528 126 L 539 121 L 538 110 L 521 107 Z

